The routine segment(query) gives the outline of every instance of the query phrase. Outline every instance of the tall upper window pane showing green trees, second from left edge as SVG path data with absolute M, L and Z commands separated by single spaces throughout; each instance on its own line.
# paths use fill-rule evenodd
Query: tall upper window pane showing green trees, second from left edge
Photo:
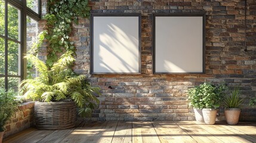
M 12 39 L 19 39 L 19 16 L 20 11 L 8 4 L 8 37 Z

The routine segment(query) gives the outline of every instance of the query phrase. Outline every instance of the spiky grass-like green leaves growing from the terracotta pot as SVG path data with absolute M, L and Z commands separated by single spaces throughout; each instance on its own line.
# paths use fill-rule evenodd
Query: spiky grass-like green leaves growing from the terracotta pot
M 235 88 L 231 95 L 227 96 L 224 100 L 224 105 L 226 108 L 239 108 L 242 104 L 243 99 L 239 99 L 240 91 L 238 88 Z

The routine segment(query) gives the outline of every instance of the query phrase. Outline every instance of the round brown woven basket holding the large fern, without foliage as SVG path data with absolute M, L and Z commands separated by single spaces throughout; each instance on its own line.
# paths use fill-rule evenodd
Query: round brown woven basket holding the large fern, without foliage
M 76 105 L 73 101 L 35 102 L 34 109 L 38 129 L 68 129 L 75 126 Z

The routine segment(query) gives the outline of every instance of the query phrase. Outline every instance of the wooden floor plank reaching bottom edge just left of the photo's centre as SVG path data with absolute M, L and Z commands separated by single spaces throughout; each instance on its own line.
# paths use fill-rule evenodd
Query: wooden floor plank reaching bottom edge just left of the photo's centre
M 132 122 L 119 121 L 112 142 L 132 142 Z

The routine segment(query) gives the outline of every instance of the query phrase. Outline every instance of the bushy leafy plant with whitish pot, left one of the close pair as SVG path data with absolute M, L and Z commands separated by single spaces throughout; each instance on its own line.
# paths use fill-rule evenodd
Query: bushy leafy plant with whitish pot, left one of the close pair
M 195 88 L 189 89 L 189 105 L 192 106 L 194 109 L 195 118 L 197 122 L 204 122 L 202 113 L 202 108 L 204 107 L 202 102 L 204 87 L 204 85 L 199 85 Z

